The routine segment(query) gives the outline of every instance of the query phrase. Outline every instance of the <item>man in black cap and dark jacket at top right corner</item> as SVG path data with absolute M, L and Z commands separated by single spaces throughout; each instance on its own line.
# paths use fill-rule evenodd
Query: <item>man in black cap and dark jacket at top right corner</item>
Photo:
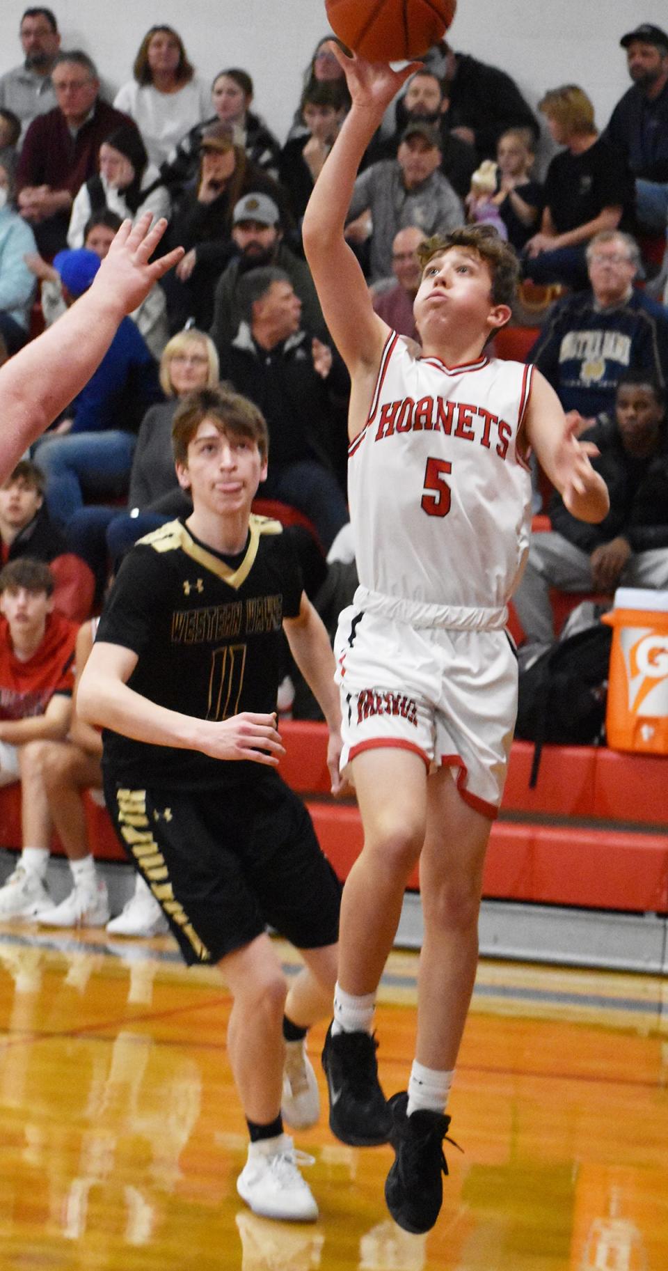
M 632 85 L 617 102 L 605 137 L 632 173 L 638 229 L 663 234 L 668 217 L 668 36 L 643 22 L 620 44 Z

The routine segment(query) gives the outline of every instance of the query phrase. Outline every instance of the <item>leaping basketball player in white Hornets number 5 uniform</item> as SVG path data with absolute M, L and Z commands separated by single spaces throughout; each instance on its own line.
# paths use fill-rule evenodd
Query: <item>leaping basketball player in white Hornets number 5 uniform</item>
M 531 529 L 533 447 L 569 511 L 607 512 L 592 447 L 566 426 L 538 371 L 489 361 L 511 316 L 512 249 L 489 226 L 427 244 L 414 313 L 422 355 L 373 313 L 344 222 L 362 155 L 415 69 L 348 58 L 352 97 L 304 219 L 329 330 L 352 380 L 349 498 L 359 590 L 340 615 L 342 761 L 364 846 L 345 883 L 339 980 L 323 1064 L 333 1132 L 390 1139 L 385 1195 L 409 1232 L 442 1204 L 444 1115 L 478 961 L 489 831 L 505 778 L 517 666 L 505 604 Z M 419 860 L 424 941 L 408 1092 L 385 1103 L 375 995 Z

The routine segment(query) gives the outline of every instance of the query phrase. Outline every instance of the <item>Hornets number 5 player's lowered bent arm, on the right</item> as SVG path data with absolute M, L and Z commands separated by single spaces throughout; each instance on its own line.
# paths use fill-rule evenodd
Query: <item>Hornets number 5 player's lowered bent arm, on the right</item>
M 577 440 L 578 423 L 578 417 L 564 414 L 555 390 L 535 369 L 526 414 L 527 438 L 571 516 L 598 524 L 610 510 L 608 491 L 589 461 L 589 455 L 598 454 L 597 447 Z

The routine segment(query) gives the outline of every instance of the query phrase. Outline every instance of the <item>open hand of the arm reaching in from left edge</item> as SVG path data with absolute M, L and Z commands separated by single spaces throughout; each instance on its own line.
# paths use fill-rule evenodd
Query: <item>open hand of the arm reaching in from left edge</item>
M 91 292 L 98 295 L 104 289 L 108 304 L 124 314 L 131 314 L 141 305 L 154 283 L 183 257 L 183 248 L 177 247 L 159 261 L 150 259 L 166 224 L 161 217 L 151 226 L 151 212 L 140 216 L 136 225 L 123 221 L 95 275 Z

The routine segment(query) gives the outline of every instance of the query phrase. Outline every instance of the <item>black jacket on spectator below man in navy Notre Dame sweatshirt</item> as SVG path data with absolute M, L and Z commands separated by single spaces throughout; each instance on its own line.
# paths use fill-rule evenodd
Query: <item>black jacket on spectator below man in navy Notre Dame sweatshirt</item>
M 552 530 L 583 552 L 592 553 L 618 535 L 631 550 L 650 552 L 668 548 L 668 444 L 663 436 L 658 451 L 649 459 L 631 459 L 611 416 L 601 414 L 593 428 L 582 435 L 593 441 L 601 454 L 592 466 L 601 473 L 610 493 L 610 512 L 599 525 L 578 521 L 555 493 L 550 502 Z

